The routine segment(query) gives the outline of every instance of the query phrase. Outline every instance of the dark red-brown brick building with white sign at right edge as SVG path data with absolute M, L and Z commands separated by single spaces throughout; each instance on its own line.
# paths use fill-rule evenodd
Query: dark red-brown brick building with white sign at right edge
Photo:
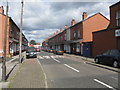
M 93 56 L 110 49 L 120 49 L 120 2 L 110 6 L 109 27 L 93 32 Z

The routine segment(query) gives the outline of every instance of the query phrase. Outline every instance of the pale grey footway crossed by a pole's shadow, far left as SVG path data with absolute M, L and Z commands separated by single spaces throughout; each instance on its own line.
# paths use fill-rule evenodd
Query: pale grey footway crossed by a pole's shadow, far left
M 22 53 L 23 57 L 25 58 L 25 52 Z M 2 63 L 0 63 L 0 89 L 8 88 L 11 79 L 16 75 L 17 71 L 21 63 L 19 63 L 19 55 L 13 56 L 11 60 L 6 61 L 6 82 L 2 80 Z

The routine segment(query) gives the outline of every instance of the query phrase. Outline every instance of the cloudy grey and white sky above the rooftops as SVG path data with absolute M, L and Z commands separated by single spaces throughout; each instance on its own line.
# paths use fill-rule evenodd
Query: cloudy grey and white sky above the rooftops
M 34 39 L 42 42 L 65 25 L 70 26 L 71 20 L 81 21 L 82 13 L 88 16 L 101 12 L 109 19 L 109 6 L 119 0 L 29 0 L 24 1 L 23 33 L 28 40 Z M 9 1 L 9 16 L 20 26 L 20 0 Z M 5 0 L 0 1 L 0 6 L 6 9 Z

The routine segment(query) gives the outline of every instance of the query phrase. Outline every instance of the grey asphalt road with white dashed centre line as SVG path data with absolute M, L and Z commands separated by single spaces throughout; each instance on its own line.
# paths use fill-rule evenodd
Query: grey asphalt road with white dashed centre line
M 118 73 L 76 61 L 71 57 L 40 52 L 48 88 L 118 88 Z

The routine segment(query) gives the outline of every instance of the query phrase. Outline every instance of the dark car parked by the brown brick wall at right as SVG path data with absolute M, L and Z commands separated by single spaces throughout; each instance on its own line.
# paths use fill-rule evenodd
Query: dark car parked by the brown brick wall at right
M 100 55 L 97 55 L 94 60 L 96 63 L 120 67 L 120 50 L 108 50 Z

